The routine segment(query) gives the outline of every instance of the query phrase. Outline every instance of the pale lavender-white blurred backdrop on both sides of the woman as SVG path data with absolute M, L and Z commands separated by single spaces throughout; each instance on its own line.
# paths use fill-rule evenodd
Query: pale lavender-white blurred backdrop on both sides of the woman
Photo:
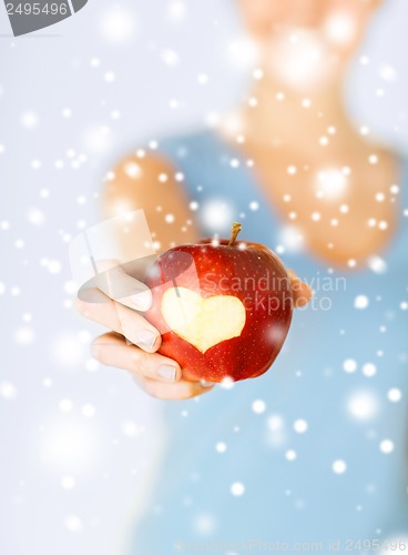
M 387 0 L 345 91 L 361 132 L 402 151 L 406 21 L 408 3 Z M 241 100 L 252 50 L 232 0 L 89 0 L 18 39 L 1 4 L 0 57 L 0 553 L 120 554 L 162 403 L 91 359 L 102 330 L 73 310 L 68 244 L 98 222 L 124 153 Z

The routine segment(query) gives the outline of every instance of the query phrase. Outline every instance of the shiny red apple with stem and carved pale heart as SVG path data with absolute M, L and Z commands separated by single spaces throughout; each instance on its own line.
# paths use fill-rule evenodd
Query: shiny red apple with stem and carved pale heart
M 147 320 L 162 333 L 160 353 L 183 379 L 221 382 L 257 377 L 278 355 L 293 311 L 290 280 L 262 244 L 204 239 L 163 253 L 147 274 Z

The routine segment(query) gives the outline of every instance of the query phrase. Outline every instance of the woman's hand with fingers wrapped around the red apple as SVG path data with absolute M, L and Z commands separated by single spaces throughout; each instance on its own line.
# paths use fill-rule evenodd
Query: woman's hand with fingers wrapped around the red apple
M 76 302 L 83 316 L 113 330 L 93 341 L 92 355 L 102 364 L 130 372 L 146 393 L 157 398 L 183 400 L 211 391 L 214 384 L 186 382 L 176 361 L 156 353 L 162 343 L 161 334 L 140 314 L 152 304 L 146 285 L 125 274 L 120 266 L 108 275 L 109 280 L 96 282 L 98 289 L 90 291 L 93 302 Z M 312 297 L 310 287 L 292 270 L 288 275 L 294 306 L 304 306 Z M 133 294 L 115 300 L 120 291 Z

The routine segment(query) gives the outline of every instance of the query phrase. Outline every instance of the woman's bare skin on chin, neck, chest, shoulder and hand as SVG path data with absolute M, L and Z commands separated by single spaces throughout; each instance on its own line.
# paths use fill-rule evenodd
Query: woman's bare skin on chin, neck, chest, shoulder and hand
M 398 208 L 396 203 L 377 200 L 387 195 L 390 184 L 398 182 L 394 155 L 358 132 L 343 102 L 348 62 L 379 2 L 238 0 L 237 3 L 257 44 L 261 70 L 257 74 L 262 79 L 254 80 L 247 98 L 235 109 L 234 130 L 231 131 L 226 118 L 218 132 L 254 160 L 259 189 L 283 222 L 295 221 L 312 256 L 343 271 L 358 271 L 367 256 L 378 253 L 390 241 Z M 336 36 L 336 18 L 343 29 L 348 24 L 347 40 Z M 315 80 L 293 80 L 296 74 L 285 74 L 274 60 L 273 52 L 285 46 L 290 33 L 298 33 L 300 41 L 305 38 L 306 47 L 309 40 L 319 41 L 323 61 Z M 296 69 L 297 54 L 289 52 L 289 56 Z M 256 99 L 255 107 L 248 102 L 252 98 Z M 139 180 L 125 171 L 131 162 L 140 168 Z M 288 167 L 296 172 L 289 173 Z M 316 175 L 330 168 L 349 169 L 347 189 L 339 198 L 322 199 L 315 189 Z M 104 186 L 103 216 L 112 218 L 121 210 L 142 206 L 162 251 L 196 241 L 194 213 L 174 179 L 176 171 L 159 155 L 125 157 L 114 169 L 114 179 Z M 167 175 L 165 183 L 159 180 L 162 173 Z M 167 213 L 175 216 L 171 225 L 164 220 Z M 318 214 L 318 219 L 313 214 Z M 367 223 L 370 221 L 382 224 L 370 225 Z M 126 252 L 131 255 L 131 245 L 123 244 L 123 252 L 124 256 Z M 310 299 L 310 290 L 294 272 L 289 273 L 295 306 L 304 305 Z M 161 344 L 159 332 L 134 312 L 134 309 L 145 310 L 150 300 L 150 292 L 145 291 L 144 297 L 139 294 L 121 303 L 111 300 L 91 305 L 79 301 L 83 315 L 113 330 L 96 337 L 93 355 L 103 364 L 131 372 L 140 386 L 155 397 L 180 400 L 210 391 L 212 384 L 185 382 L 178 364 L 156 353 Z M 124 337 L 133 345 L 128 345 Z

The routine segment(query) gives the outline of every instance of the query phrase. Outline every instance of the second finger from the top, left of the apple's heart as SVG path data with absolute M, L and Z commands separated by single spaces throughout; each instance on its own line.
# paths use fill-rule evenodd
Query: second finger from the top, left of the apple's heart
M 157 351 L 162 344 L 159 331 L 137 312 L 104 296 L 104 302 L 99 303 L 86 303 L 78 299 L 76 307 L 83 316 L 121 333 L 143 351 Z

